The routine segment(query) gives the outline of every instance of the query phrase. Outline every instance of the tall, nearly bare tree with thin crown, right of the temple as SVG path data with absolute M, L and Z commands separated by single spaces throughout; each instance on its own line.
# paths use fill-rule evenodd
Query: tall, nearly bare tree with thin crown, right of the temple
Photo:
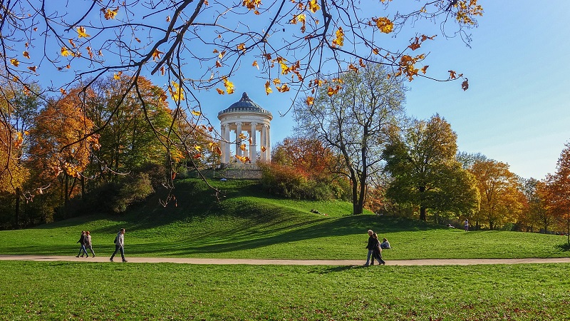
M 354 214 L 362 213 L 369 176 L 382 169 L 388 134 L 403 116 L 405 86 L 388 73 L 382 65 L 369 64 L 331 79 L 317 89 L 314 101 L 295 107 L 297 130 L 340 156 L 352 184 Z

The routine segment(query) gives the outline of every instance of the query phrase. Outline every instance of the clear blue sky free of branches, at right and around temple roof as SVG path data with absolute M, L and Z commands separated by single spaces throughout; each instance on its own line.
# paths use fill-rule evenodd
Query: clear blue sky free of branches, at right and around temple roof
M 469 78 L 437 83 L 418 78 L 408 83 L 408 115 L 427 119 L 439 113 L 457 133 L 460 151 L 482 153 L 510 165 L 524 178 L 554 173 L 556 161 L 570 141 L 570 1 L 480 0 L 484 16 L 472 29 L 471 49 L 460 39 L 423 46 L 430 51 L 430 76 L 446 77 L 453 69 Z M 418 32 L 420 32 L 418 30 Z M 408 39 L 408 36 L 405 36 Z M 427 43 L 426 43 L 427 44 Z M 234 95 L 217 97 L 214 111 L 227 108 L 247 91 L 253 101 L 273 113 L 271 143 L 291 136 L 291 101 L 263 86 L 234 81 Z M 209 108 L 205 108 L 210 113 Z M 214 115 L 208 115 L 212 122 Z

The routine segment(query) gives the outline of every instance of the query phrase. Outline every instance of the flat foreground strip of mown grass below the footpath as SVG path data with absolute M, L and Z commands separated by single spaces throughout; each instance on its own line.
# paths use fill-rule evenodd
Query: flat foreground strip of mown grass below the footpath
M 568 320 L 570 264 L 0 261 L 0 320 Z

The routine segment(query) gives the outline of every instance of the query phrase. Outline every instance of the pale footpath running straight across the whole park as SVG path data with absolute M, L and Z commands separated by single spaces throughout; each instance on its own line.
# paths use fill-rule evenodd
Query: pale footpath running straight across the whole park
M 53 255 L 0 255 L 0 260 L 30 261 L 72 261 L 109 262 L 107 256 L 76 258 L 75 256 Z M 128 263 L 182 263 L 182 264 L 246 264 L 246 265 L 363 265 L 366 260 L 258 260 L 231 258 L 135 258 L 128 257 Z M 120 264 L 119 258 L 110 264 Z M 570 263 L 570 258 L 520 258 L 520 259 L 422 259 L 388 260 L 386 265 L 477 265 L 477 264 L 531 264 L 531 263 Z

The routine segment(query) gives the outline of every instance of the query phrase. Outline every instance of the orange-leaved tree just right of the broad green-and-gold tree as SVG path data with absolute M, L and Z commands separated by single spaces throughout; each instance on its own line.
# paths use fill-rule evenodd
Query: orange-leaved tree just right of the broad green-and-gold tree
M 471 173 L 477 178 L 481 195 L 480 210 L 475 215 L 477 225 L 485 222 L 494 230 L 504 223 L 515 223 L 522 211 L 524 195 L 509 165 L 493 160 L 475 161 Z

